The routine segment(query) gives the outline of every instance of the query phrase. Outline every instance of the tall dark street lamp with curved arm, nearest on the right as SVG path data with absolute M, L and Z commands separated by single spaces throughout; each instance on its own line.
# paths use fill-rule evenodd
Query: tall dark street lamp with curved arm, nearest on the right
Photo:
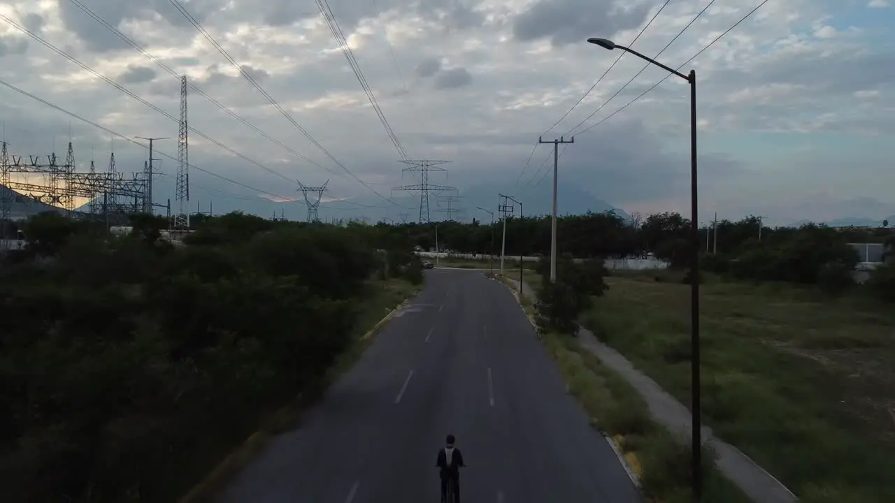
M 700 376 L 699 376 L 699 224 L 697 220 L 697 198 L 698 188 L 696 185 L 696 71 L 690 70 L 685 75 L 673 68 L 669 68 L 658 61 L 642 55 L 630 47 L 619 46 L 606 38 L 588 38 L 591 44 L 603 47 L 604 49 L 621 49 L 631 53 L 644 61 L 655 64 L 660 68 L 674 73 L 681 79 L 690 84 L 690 379 L 691 379 L 691 399 L 690 413 L 693 416 L 691 425 L 693 437 L 693 461 L 691 470 L 693 471 L 693 492 L 696 500 L 702 497 L 703 492 L 703 476 L 702 476 L 702 432 L 700 425 L 702 418 L 700 417 Z

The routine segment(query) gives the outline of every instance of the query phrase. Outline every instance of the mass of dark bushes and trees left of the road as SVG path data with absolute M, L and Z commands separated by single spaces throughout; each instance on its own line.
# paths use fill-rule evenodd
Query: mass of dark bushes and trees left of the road
M 0 485 L 9 501 L 171 501 L 320 381 L 371 280 L 422 281 L 373 226 L 207 218 L 183 245 L 54 213 L 0 263 Z

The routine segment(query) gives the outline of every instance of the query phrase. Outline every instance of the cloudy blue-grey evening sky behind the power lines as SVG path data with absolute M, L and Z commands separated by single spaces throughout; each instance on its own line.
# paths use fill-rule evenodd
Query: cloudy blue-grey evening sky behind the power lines
M 550 146 L 535 149 L 539 135 L 575 134 L 560 148 L 564 186 L 629 212 L 688 214 L 685 81 L 668 79 L 612 115 L 666 74 L 650 67 L 617 94 L 644 67 L 625 55 L 567 111 L 622 54 L 586 38 L 636 38 L 633 48 L 656 55 L 709 3 L 330 0 L 327 8 L 406 156 L 451 161 L 430 183 L 456 186 L 461 196 L 486 187 L 540 201 L 550 185 L 544 161 L 552 158 Z M 270 200 L 300 198 L 296 180 L 328 181 L 321 216 L 415 217 L 413 199 L 392 187 L 417 179 L 402 174 L 405 154 L 318 4 L 180 4 L 234 63 L 169 0 L 9 0 L 0 5 L 0 80 L 124 137 L 171 137 L 157 142 L 158 202 L 173 197 L 176 162 L 165 156 L 176 158 L 176 75 L 185 74 L 201 91 L 189 95 L 192 206 L 213 201 L 216 212 L 303 217 L 302 205 Z M 659 59 L 684 64 L 757 4 L 712 2 Z M 785 223 L 895 213 L 893 23 L 891 0 L 770 0 L 681 68 L 699 77 L 703 216 L 752 213 Z M 0 119 L 16 155 L 64 155 L 71 138 L 79 170 L 91 157 L 105 168 L 113 146 L 120 170 L 140 170 L 147 158 L 144 148 L 113 142 L 5 86 Z

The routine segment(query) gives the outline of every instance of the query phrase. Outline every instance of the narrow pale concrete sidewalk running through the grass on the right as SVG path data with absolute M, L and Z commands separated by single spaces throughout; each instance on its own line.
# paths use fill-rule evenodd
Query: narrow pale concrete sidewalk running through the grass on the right
M 507 277 L 519 290 L 519 281 Z M 536 300 L 533 289 L 525 284 L 523 294 L 533 303 Z M 674 396 L 665 392 L 656 382 L 643 372 L 635 369 L 631 362 L 618 351 L 603 344 L 590 330 L 582 327 L 578 332 L 578 341 L 592 354 L 597 355 L 613 371 L 618 372 L 627 382 L 644 397 L 649 406 L 652 418 L 664 425 L 669 431 L 678 436 L 682 441 L 689 441 L 690 423 L 693 421 L 689 409 L 682 405 Z M 718 455 L 716 463 L 721 473 L 746 493 L 756 503 L 793 503 L 798 498 L 788 490 L 771 473 L 755 464 L 748 456 L 730 444 L 717 439 L 712 434 L 712 429 L 702 428 L 703 444 L 711 443 Z

